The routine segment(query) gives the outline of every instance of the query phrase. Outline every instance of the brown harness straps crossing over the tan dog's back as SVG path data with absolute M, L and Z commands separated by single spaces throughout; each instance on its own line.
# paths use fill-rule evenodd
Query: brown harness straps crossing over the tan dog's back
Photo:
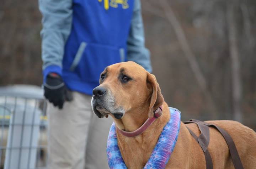
M 198 125 L 198 128 L 201 131 L 201 134 L 199 135 L 199 137 L 197 137 L 190 129 L 188 129 L 188 127 L 187 127 L 187 129 L 190 132 L 190 134 L 194 137 L 194 139 L 201 146 L 201 148 L 204 152 L 204 156 L 206 158 L 206 168 L 207 169 L 212 169 L 212 167 L 213 167 L 212 158 L 210 157 L 210 154 L 207 150 L 208 145 L 209 145 L 209 141 L 210 141 L 209 127 L 208 126 L 215 127 L 222 134 L 222 136 L 224 137 L 224 139 L 225 139 L 225 141 L 226 141 L 226 143 L 229 147 L 229 152 L 230 152 L 231 159 L 233 161 L 235 169 L 244 169 L 244 167 L 242 166 L 242 162 L 241 162 L 241 159 L 239 157 L 238 151 L 236 149 L 235 143 L 234 143 L 233 139 L 231 138 L 231 136 L 228 134 L 228 132 L 226 132 L 224 129 L 222 129 L 222 128 L 214 125 L 214 124 L 209 124 L 209 123 L 202 122 L 202 121 L 199 121 L 199 120 L 191 119 L 189 122 L 184 122 L 184 123 L 185 124 L 187 124 L 187 123 L 196 123 Z M 208 129 L 206 129 L 206 127 Z M 208 152 L 209 155 L 207 155 L 206 152 Z

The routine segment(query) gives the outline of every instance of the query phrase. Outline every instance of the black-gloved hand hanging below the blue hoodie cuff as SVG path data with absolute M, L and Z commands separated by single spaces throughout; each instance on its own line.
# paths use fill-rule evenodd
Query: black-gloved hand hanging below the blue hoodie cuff
M 47 75 L 44 84 L 44 96 L 59 109 L 62 109 L 65 101 L 72 100 L 70 91 L 67 90 L 62 78 L 56 73 Z

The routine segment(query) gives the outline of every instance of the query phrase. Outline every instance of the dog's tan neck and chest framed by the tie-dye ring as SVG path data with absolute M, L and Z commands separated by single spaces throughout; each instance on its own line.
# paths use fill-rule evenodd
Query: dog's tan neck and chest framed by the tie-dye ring
M 162 129 L 170 120 L 166 103 L 163 104 L 162 109 L 162 116 L 156 119 L 144 133 L 136 137 L 127 137 L 117 131 L 118 147 L 128 168 L 143 168 L 148 161 Z M 127 113 L 122 119 L 114 119 L 114 122 L 120 130 L 134 131 L 146 121 L 148 112 L 146 108 L 143 112 L 140 109 L 138 112 Z

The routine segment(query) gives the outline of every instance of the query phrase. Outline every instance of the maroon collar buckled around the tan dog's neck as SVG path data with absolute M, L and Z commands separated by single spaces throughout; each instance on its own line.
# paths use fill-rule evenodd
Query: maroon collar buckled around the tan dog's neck
M 157 118 L 159 118 L 162 115 L 162 106 L 160 106 L 159 108 L 155 109 L 154 111 L 154 116 L 152 118 L 148 118 L 145 123 L 143 123 L 142 126 L 140 126 L 140 128 L 138 128 L 135 131 L 124 131 L 124 130 L 120 130 L 117 127 L 117 130 L 123 134 L 124 136 L 127 137 L 135 137 L 138 136 L 140 134 L 142 134 Z

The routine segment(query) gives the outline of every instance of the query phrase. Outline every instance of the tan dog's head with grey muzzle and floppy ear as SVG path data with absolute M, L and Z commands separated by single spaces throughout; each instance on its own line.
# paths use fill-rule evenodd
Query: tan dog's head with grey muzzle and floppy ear
M 138 110 L 153 117 L 153 110 L 163 102 L 155 76 L 135 62 L 122 62 L 105 68 L 91 101 L 92 109 L 99 118 L 110 114 L 116 119 Z

